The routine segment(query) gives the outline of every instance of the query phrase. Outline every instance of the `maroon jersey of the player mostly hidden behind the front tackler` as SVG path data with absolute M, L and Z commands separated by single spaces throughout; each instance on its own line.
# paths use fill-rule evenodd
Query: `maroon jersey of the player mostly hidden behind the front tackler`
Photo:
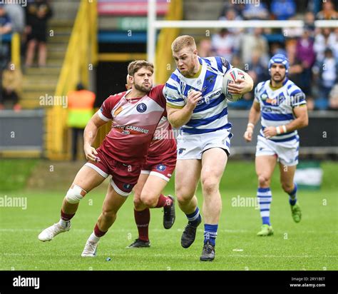
M 167 113 L 163 113 L 158 127 L 150 143 L 147 164 L 163 163 L 170 160 L 176 161 L 176 141 L 173 129 L 168 121 Z

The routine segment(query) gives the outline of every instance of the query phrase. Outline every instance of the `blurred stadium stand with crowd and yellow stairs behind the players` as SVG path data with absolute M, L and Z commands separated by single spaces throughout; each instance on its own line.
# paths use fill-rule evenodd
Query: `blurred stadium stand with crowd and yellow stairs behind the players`
M 110 94 L 125 90 L 128 63 L 148 59 L 147 50 L 151 53 L 148 1 L 2 2 L 0 158 L 81 165 L 86 122 Z M 181 34 L 195 37 L 200 56 L 225 57 L 247 71 L 255 85 L 269 78 L 270 56 L 282 52 L 290 60 L 289 78 L 306 93 L 309 108 L 309 126 L 299 131 L 299 167 L 306 161 L 311 166 L 337 161 L 337 1 L 154 2 L 157 20 L 240 21 L 246 26 L 215 27 L 206 22 L 201 29 L 157 29 L 155 83 L 165 83 L 175 70 L 170 44 Z M 259 25 L 250 27 L 249 21 Z M 255 141 L 247 144 L 242 139 L 252 99 L 253 92 L 229 105 L 234 158 L 254 157 Z M 109 128 L 101 129 L 96 146 Z

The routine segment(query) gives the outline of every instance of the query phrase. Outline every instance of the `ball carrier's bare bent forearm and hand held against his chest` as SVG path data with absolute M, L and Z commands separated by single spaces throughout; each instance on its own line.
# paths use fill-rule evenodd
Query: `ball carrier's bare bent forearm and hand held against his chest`
M 201 98 L 201 92 L 190 91 L 188 93 L 187 103 L 185 106 L 183 106 L 183 108 L 173 108 L 167 103 L 168 121 L 173 126 L 173 128 L 180 128 L 181 126 L 184 126 L 185 123 L 190 121 L 193 111 Z

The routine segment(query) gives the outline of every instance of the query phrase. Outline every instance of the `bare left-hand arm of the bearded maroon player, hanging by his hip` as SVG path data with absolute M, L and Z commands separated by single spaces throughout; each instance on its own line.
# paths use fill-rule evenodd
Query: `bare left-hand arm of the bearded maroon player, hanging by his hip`
M 100 116 L 98 116 L 98 113 L 95 113 L 91 120 L 88 121 L 86 128 L 83 132 L 83 151 L 86 155 L 86 158 L 91 161 L 98 161 L 98 157 L 95 155 L 98 154 L 96 149 L 93 148 L 91 145 L 94 143 L 96 135 L 98 134 L 98 128 L 103 126 L 108 121 L 103 121 Z

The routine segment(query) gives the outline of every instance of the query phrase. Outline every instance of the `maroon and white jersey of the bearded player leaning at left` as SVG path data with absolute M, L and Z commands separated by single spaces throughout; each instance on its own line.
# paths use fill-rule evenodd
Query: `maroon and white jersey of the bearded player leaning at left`
M 164 85 L 153 87 L 140 98 L 126 99 L 122 92 L 109 96 L 97 112 L 103 121 L 112 121 L 111 131 L 101 150 L 116 161 L 142 164 L 150 142 L 165 111 Z

